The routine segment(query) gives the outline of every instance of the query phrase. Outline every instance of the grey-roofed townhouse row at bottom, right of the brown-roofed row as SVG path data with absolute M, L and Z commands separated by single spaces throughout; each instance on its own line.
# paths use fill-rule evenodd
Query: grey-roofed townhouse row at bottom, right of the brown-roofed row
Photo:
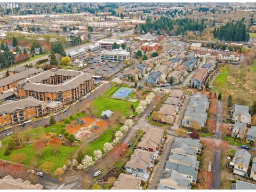
M 191 189 L 190 183 L 197 181 L 201 150 L 199 140 L 176 137 L 157 189 Z

